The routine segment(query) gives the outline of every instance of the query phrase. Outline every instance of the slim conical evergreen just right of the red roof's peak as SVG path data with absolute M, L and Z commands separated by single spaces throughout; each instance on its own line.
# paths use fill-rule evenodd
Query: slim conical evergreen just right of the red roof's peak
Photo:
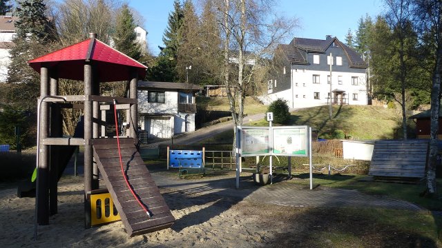
M 125 4 L 117 15 L 117 24 L 115 26 L 115 48 L 120 52 L 130 56 L 132 59 L 139 60 L 141 57 L 141 45 L 137 43 L 136 25 L 128 6 Z

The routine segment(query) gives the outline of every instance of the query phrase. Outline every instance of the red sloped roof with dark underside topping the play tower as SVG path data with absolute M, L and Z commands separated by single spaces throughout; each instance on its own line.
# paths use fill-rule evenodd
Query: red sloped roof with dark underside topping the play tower
M 81 41 L 32 59 L 28 63 L 37 72 L 40 72 L 44 63 L 48 68 L 57 67 L 60 79 L 83 81 L 83 65 L 86 61 L 91 61 L 100 82 L 129 80 L 131 70 L 137 71 L 138 79 L 144 79 L 146 76 L 146 66 L 97 39 Z

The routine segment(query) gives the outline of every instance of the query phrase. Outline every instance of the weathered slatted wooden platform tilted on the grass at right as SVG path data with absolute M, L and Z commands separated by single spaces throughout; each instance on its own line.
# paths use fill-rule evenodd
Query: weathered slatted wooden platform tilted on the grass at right
M 425 177 L 428 140 L 385 140 L 374 143 L 369 175 L 390 178 Z

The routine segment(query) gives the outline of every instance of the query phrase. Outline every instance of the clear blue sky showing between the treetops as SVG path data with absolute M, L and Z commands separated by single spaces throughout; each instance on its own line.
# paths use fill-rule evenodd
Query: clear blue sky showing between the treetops
M 300 28 L 294 30 L 295 37 L 311 39 L 325 39 L 325 35 L 331 34 L 340 41 L 345 41 L 348 29 L 354 32 L 361 17 L 369 14 L 375 18 L 383 12 L 382 0 L 277 0 L 277 2 L 278 5 L 275 6 L 277 12 L 300 20 Z M 162 35 L 167 26 L 169 12 L 173 10 L 173 0 L 128 0 L 128 3 L 144 17 L 148 45 L 156 55 L 159 52 L 158 45 L 164 45 Z

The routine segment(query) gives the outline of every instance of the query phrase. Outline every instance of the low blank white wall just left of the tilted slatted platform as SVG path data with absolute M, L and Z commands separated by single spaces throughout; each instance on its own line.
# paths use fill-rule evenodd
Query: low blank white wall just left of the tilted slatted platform
M 374 143 L 361 141 L 343 141 L 343 157 L 371 161 Z

